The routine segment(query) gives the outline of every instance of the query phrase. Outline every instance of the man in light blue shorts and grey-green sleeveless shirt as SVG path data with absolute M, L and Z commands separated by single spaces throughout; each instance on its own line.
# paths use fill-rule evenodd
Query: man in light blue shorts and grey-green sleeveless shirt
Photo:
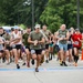
M 68 51 L 68 40 L 69 40 L 69 32 L 66 30 L 66 25 L 62 24 L 56 32 L 56 39 L 59 40 L 59 48 L 60 48 L 60 55 L 61 55 L 61 63 L 60 65 L 68 66 L 65 63 L 66 51 Z

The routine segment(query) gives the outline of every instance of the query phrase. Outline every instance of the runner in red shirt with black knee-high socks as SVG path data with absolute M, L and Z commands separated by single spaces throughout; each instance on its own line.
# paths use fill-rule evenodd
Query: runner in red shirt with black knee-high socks
M 79 50 L 82 46 L 82 34 L 79 29 L 75 29 L 75 32 L 72 35 L 72 40 L 73 40 L 73 51 L 74 51 L 74 66 L 77 66 Z

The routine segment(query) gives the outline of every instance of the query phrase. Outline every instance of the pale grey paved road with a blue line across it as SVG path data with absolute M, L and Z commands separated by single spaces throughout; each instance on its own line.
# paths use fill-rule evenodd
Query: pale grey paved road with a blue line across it
M 79 60 L 79 66 L 66 62 L 69 66 L 60 66 L 59 61 L 53 59 L 49 63 L 43 63 L 34 72 L 34 65 L 31 68 L 22 66 L 17 70 L 15 64 L 0 63 L 0 83 L 83 83 L 83 61 Z

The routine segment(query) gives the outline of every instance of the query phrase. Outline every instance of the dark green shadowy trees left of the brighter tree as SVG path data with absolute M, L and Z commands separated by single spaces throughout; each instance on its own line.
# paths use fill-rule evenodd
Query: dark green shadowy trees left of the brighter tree
M 0 23 L 6 24 L 32 24 L 31 3 L 23 4 L 28 0 L 0 0 Z M 31 1 L 31 0 L 30 0 Z M 40 15 L 48 0 L 34 0 L 34 20 L 40 23 Z

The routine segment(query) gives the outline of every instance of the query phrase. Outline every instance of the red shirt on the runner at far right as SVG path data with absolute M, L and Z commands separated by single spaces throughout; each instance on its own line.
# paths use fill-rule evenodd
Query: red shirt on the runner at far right
M 82 46 L 82 43 L 80 40 L 82 40 L 82 34 L 81 33 L 74 33 L 72 34 L 72 40 L 73 40 L 73 46 L 75 48 L 81 48 Z

